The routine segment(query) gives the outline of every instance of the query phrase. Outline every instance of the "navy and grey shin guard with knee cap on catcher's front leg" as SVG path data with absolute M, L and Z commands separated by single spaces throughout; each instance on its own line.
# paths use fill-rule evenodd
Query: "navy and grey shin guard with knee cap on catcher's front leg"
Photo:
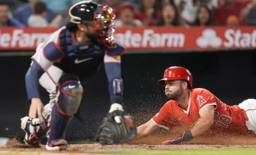
M 72 117 L 78 112 L 83 94 L 83 87 L 73 74 L 60 77 L 57 88 L 58 99 L 52 108 L 48 141 L 63 138 Z

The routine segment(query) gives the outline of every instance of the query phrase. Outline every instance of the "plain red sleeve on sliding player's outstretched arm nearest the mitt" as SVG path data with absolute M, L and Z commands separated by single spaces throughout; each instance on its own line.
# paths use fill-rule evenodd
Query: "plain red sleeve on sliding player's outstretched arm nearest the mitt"
M 172 110 L 170 102 L 166 102 L 161 110 L 157 114 L 155 114 L 153 118 L 151 118 L 151 121 L 153 121 L 155 125 L 169 130 L 169 128 L 171 127 L 171 112 Z

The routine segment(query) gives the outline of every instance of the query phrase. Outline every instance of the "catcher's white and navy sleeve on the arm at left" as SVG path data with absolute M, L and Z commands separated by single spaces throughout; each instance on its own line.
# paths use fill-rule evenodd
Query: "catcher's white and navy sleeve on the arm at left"
M 27 98 L 29 101 L 32 98 L 40 98 L 39 78 L 44 72 L 47 72 L 54 62 L 58 62 L 64 57 L 64 53 L 58 45 L 60 30 L 51 34 L 46 42 L 40 43 L 37 46 L 35 55 L 31 57 L 32 62 L 25 75 Z

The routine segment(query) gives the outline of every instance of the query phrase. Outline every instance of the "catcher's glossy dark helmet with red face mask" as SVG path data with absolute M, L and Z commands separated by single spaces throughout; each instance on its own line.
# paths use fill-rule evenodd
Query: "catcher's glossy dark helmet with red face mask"
M 92 0 L 83 0 L 70 7 L 70 23 L 66 26 L 72 28 L 77 24 L 90 24 L 97 34 L 97 40 L 108 48 L 115 48 L 114 19 L 112 8 L 101 5 Z

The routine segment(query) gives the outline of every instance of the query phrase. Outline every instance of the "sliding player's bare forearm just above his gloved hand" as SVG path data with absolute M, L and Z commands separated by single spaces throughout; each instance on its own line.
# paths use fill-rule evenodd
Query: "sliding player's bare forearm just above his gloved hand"
M 196 136 L 204 133 L 207 129 L 209 129 L 209 127 L 211 127 L 211 125 L 213 125 L 213 119 L 210 119 L 208 117 L 206 117 L 206 118 L 201 117 L 196 122 L 194 127 L 192 127 L 192 129 L 190 130 L 192 133 L 192 136 L 196 137 Z

